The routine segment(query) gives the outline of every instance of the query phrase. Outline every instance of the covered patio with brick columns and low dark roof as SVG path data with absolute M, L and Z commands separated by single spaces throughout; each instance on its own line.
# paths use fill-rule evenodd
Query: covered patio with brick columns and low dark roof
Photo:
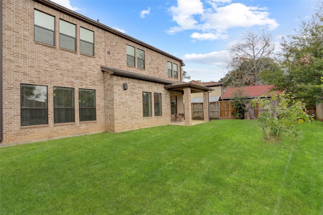
M 182 124 L 186 126 L 193 125 L 193 118 L 192 118 L 192 103 L 191 103 L 191 94 L 192 93 L 203 93 L 203 100 L 206 102 L 203 102 L 203 121 L 200 122 L 208 122 L 209 116 L 208 116 L 208 93 L 212 91 L 212 88 L 187 83 L 187 82 L 175 82 L 172 84 L 168 84 L 164 86 L 165 89 L 168 89 L 170 91 L 175 92 L 181 92 L 183 95 L 183 101 L 184 101 L 184 114 L 185 114 L 185 120 L 182 121 Z M 178 124 L 179 122 L 177 122 Z M 195 123 L 195 122 L 194 122 Z M 176 122 L 174 122 L 176 124 Z

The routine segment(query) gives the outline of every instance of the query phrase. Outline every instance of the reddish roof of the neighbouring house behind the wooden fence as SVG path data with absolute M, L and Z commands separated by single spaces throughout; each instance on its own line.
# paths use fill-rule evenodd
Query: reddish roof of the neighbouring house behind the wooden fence
M 259 97 L 267 92 L 270 92 L 274 85 L 255 85 L 245 87 L 230 87 L 221 96 L 222 99 L 230 99 L 235 97 L 235 94 L 241 90 L 243 97 Z M 279 91 L 277 92 L 279 93 Z

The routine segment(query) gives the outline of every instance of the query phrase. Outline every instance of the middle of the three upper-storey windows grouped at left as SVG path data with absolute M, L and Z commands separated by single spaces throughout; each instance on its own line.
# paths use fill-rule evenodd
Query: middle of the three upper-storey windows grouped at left
M 76 25 L 60 20 L 60 47 L 76 50 Z

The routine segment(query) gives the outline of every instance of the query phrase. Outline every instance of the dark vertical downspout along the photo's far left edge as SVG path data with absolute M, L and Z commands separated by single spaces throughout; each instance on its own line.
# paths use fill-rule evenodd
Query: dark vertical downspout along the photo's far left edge
M 0 143 L 4 139 L 3 124 L 3 1 L 0 0 Z

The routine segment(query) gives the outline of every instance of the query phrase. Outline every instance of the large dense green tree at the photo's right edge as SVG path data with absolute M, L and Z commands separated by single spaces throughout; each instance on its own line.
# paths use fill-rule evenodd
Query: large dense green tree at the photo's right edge
M 307 106 L 323 102 L 323 2 L 308 22 L 302 21 L 296 34 L 283 38 L 280 52 L 283 73 L 273 83 L 277 89 L 291 93 Z

